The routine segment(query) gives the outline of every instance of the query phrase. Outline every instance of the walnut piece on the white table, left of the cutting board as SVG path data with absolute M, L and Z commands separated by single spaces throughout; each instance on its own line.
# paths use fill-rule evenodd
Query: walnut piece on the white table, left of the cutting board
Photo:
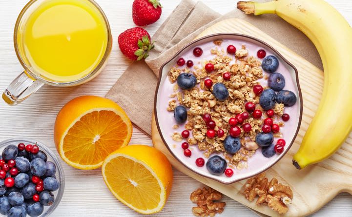
M 197 206 L 192 208 L 193 215 L 199 217 L 214 217 L 215 214 L 222 213 L 226 203 L 217 202 L 217 200 L 222 198 L 223 194 L 212 188 L 199 188 L 195 190 L 190 195 L 190 200 L 197 203 Z

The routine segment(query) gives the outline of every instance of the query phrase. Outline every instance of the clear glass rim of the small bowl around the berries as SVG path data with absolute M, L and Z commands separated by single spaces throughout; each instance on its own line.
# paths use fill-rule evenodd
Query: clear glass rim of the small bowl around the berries
M 45 152 L 45 154 L 48 157 L 48 161 L 52 161 L 55 163 L 56 165 L 56 179 L 58 179 L 60 181 L 60 188 L 57 191 L 52 192 L 54 194 L 55 197 L 55 201 L 51 206 L 44 206 L 44 211 L 43 213 L 39 216 L 39 217 L 47 217 L 49 216 L 55 209 L 56 207 L 59 205 L 61 199 L 62 199 L 62 195 L 63 195 L 63 191 L 65 188 L 65 175 L 63 174 L 63 168 L 62 165 L 60 163 L 59 158 L 56 157 L 56 155 L 48 148 L 46 147 L 44 144 L 42 144 L 41 142 L 34 140 L 34 139 L 29 139 L 29 138 L 13 138 L 13 139 L 7 139 L 4 141 L 0 142 L 0 153 L 2 153 L 2 150 L 7 146 L 7 145 L 18 145 L 19 143 L 24 143 L 25 145 L 27 144 L 37 144 L 39 147 L 39 150 Z M 29 215 L 27 215 L 28 217 Z M 0 217 L 6 217 L 0 214 Z

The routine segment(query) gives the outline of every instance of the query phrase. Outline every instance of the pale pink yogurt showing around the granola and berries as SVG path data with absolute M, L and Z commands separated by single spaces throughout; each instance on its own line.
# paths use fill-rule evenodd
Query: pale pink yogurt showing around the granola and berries
M 264 49 L 267 53 L 267 56 L 274 55 L 269 49 L 266 49 L 263 47 L 258 47 L 257 44 L 251 43 L 249 41 L 225 39 L 220 46 L 215 45 L 212 41 L 195 46 L 195 47 L 202 48 L 203 55 L 201 57 L 195 57 L 193 55 L 193 49 L 195 47 L 190 47 L 190 49 L 188 51 L 184 52 L 184 54 L 182 56 L 176 58 L 175 62 L 171 63 L 171 64 L 176 66 L 177 59 L 182 57 L 186 61 L 192 60 L 194 63 L 194 66 L 202 67 L 202 65 L 201 65 L 202 62 L 208 61 L 208 60 L 214 58 L 215 55 L 210 54 L 211 49 L 214 49 L 217 46 L 219 50 L 223 49 L 224 51 L 226 51 L 228 45 L 230 45 L 230 44 L 234 45 L 237 48 L 237 50 L 241 49 L 242 45 L 245 45 L 246 49 L 248 50 L 248 56 L 254 56 L 257 58 L 257 51 L 260 49 Z M 277 55 L 274 55 L 274 56 L 277 57 Z M 279 64 L 279 68 L 276 72 L 281 73 L 285 78 L 286 85 L 285 85 L 284 89 L 292 91 L 297 96 L 297 102 L 295 105 L 293 105 L 291 107 L 285 107 L 284 113 L 287 113 L 290 115 L 290 120 L 287 122 L 284 122 L 285 126 L 280 127 L 280 132 L 283 134 L 283 138 L 286 140 L 286 146 L 285 146 L 285 150 L 286 150 L 288 148 L 290 142 L 292 141 L 294 134 L 296 132 L 296 129 L 297 129 L 296 120 L 298 120 L 298 118 L 299 118 L 299 112 L 298 112 L 299 111 L 299 105 L 298 105 L 298 100 L 299 100 L 298 97 L 299 96 L 298 96 L 298 92 L 297 92 L 297 88 L 296 88 L 296 84 L 295 84 L 296 82 L 291 77 L 291 74 L 289 71 L 290 66 L 288 66 L 286 63 L 281 61 L 280 58 L 278 58 L 278 59 L 280 61 L 280 64 Z M 262 60 L 262 59 L 260 59 L 260 60 Z M 230 62 L 230 65 L 233 64 L 234 62 L 235 62 L 235 60 L 232 60 Z M 183 67 L 186 67 L 186 64 Z M 190 69 L 192 71 L 192 68 L 190 68 Z M 263 73 L 265 75 L 269 76 L 269 73 L 264 72 L 264 70 L 263 70 Z M 268 86 L 267 80 L 265 80 L 265 79 L 260 79 L 259 82 L 263 87 Z M 159 96 L 161 112 L 158 113 L 158 120 L 159 120 L 160 127 L 163 131 L 163 135 L 166 140 L 166 143 L 168 144 L 170 149 L 174 152 L 174 154 L 178 158 L 182 158 L 182 161 L 187 166 L 189 166 L 190 168 L 192 168 L 193 170 L 196 170 L 197 172 L 199 172 L 201 174 L 206 173 L 206 174 L 208 174 L 208 176 L 212 177 L 213 175 L 210 175 L 208 173 L 206 165 L 204 165 L 203 167 L 197 167 L 195 165 L 195 160 L 197 158 L 199 158 L 199 157 L 205 158 L 203 155 L 203 151 L 200 151 L 198 149 L 197 145 L 190 146 L 189 149 L 192 151 L 192 156 L 190 158 L 188 158 L 188 157 L 184 156 L 184 154 L 183 154 L 184 150 L 181 148 L 182 142 L 186 141 L 186 139 L 184 139 L 181 142 L 176 142 L 176 141 L 172 140 L 172 138 L 171 138 L 171 135 L 174 132 L 179 132 L 181 134 L 181 132 L 183 130 L 185 130 L 184 124 L 180 125 L 180 127 L 176 130 L 173 129 L 172 128 L 173 125 L 177 124 L 177 122 L 175 121 L 175 119 L 173 117 L 173 112 L 166 111 L 166 108 L 168 106 L 168 102 L 171 100 L 171 98 L 169 96 L 172 93 L 174 93 L 173 86 L 174 86 L 174 84 L 171 84 L 169 79 L 166 78 L 165 82 L 163 83 L 163 85 L 160 86 L 160 90 L 159 90 L 159 94 L 161 94 Z M 165 111 L 165 112 L 162 112 L 162 111 Z M 279 121 L 282 121 L 282 120 L 279 120 Z M 275 122 L 278 122 L 278 120 L 275 120 Z M 190 137 L 192 137 L 192 133 L 190 134 Z M 279 138 L 274 138 L 273 143 L 276 144 L 276 141 L 278 139 Z M 219 156 L 223 157 L 222 153 L 214 153 L 211 156 L 213 156 L 213 155 L 219 155 Z M 265 158 L 261 153 L 261 148 L 259 148 L 251 158 L 248 158 L 248 161 L 247 161 L 248 168 L 243 168 L 241 170 L 233 169 L 233 172 L 234 172 L 233 177 L 235 177 L 236 175 L 241 176 L 241 177 L 246 177 L 248 175 L 251 175 L 253 173 L 253 170 L 256 170 L 256 171 L 264 170 L 265 168 L 268 167 L 268 164 L 270 162 L 272 162 L 272 160 L 275 160 L 274 158 L 275 159 L 279 158 L 279 155 L 276 154 L 271 158 Z M 205 161 L 207 162 L 207 158 L 205 158 Z M 221 179 L 225 179 L 225 178 L 227 178 L 225 176 L 225 174 L 221 175 Z

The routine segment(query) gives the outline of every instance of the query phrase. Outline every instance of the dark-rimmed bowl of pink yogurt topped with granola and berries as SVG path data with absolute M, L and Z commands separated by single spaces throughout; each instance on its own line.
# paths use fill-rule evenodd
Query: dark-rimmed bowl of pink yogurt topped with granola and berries
M 164 63 L 154 100 L 173 157 L 224 184 L 283 158 L 302 110 L 297 69 L 266 42 L 232 33 L 197 39 Z

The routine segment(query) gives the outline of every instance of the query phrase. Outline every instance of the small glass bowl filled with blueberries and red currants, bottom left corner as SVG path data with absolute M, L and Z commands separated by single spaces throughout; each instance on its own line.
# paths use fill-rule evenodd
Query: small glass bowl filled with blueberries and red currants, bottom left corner
M 64 192 L 60 160 L 41 142 L 26 138 L 0 142 L 0 153 L 0 217 L 49 216 Z

